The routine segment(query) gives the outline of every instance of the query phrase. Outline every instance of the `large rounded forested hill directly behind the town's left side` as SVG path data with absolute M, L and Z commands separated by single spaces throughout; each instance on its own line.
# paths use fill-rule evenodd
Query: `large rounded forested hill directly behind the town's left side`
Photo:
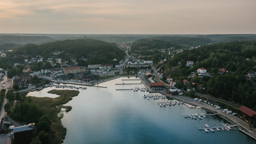
M 53 52 L 60 51 L 58 57 L 62 59 L 84 58 L 88 59 L 89 64 L 106 63 L 113 59 L 121 60 L 124 51 L 120 50 L 116 43 L 108 43 L 95 39 L 76 39 L 56 41 L 41 45 L 26 44 L 14 51 L 13 54 L 24 54 L 35 57 L 41 55 L 48 58 Z

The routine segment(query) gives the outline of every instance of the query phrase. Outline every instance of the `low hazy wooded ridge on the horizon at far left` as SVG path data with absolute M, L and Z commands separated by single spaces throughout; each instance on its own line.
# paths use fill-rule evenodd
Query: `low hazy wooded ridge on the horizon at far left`
M 54 40 L 47 36 L 0 36 L 0 44 L 14 43 L 14 44 L 41 44 Z

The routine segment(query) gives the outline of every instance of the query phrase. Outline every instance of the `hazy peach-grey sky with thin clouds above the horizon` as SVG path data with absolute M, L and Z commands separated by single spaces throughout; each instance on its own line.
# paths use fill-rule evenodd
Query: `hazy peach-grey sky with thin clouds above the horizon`
M 256 0 L 1 0 L 0 33 L 256 34 Z

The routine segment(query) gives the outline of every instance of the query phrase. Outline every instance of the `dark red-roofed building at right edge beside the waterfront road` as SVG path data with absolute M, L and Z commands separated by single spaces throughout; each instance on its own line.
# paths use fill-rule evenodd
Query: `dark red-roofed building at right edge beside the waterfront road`
M 238 116 L 243 118 L 246 122 L 255 119 L 255 114 L 256 112 L 244 106 L 238 108 Z

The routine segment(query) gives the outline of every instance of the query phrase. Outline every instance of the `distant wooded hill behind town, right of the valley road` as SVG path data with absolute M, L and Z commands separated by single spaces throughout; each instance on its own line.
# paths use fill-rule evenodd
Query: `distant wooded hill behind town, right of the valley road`
M 131 53 L 138 53 L 142 55 L 152 55 L 149 50 L 168 49 L 174 47 L 175 49 L 190 48 L 198 45 L 205 45 L 212 43 L 209 38 L 192 38 L 182 36 L 159 36 L 143 38 L 132 43 Z

